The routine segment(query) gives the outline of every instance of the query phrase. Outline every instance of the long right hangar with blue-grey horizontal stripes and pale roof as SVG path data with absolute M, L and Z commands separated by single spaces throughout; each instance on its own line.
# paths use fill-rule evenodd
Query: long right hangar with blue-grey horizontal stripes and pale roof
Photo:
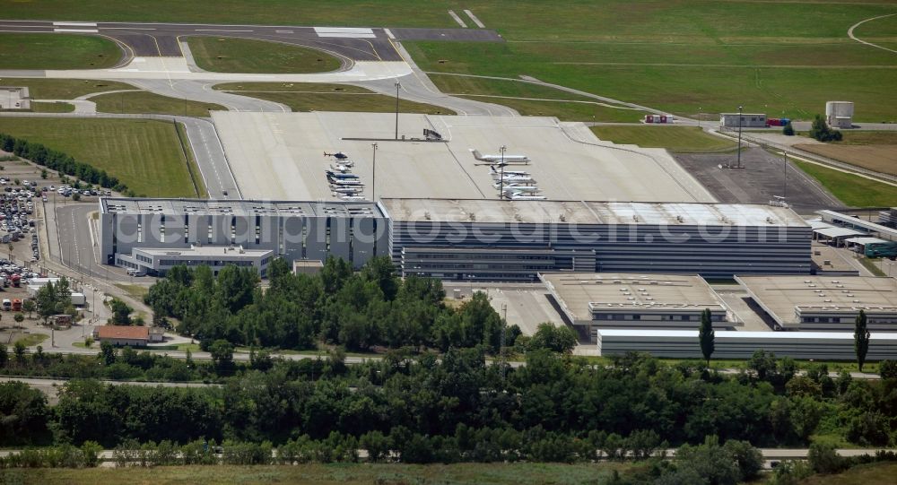
M 403 275 L 809 274 L 811 228 L 765 204 L 382 199 Z

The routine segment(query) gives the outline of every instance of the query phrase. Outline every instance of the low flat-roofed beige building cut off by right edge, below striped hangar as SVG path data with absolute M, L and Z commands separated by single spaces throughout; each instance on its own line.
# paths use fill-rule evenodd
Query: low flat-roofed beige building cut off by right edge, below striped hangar
M 859 310 L 872 332 L 897 331 L 897 280 L 867 276 L 736 276 L 785 330 L 852 332 Z

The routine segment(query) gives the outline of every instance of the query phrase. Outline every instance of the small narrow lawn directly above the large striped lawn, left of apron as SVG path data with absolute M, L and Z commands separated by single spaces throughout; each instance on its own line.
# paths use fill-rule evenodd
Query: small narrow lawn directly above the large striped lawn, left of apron
M 221 105 L 200 101 L 179 100 L 154 92 L 113 92 L 94 96 L 97 111 L 103 113 L 152 113 L 157 115 L 179 115 L 185 117 L 209 117 L 209 110 L 221 110 Z

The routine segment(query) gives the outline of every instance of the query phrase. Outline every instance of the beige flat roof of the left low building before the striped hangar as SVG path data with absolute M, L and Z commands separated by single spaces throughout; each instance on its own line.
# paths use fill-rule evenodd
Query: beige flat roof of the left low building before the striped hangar
M 640 273 L 540 273 L 540 279 L 574 321 L 591 321 L 592 308 L 614 310 L 726 310 L 698 275 Z

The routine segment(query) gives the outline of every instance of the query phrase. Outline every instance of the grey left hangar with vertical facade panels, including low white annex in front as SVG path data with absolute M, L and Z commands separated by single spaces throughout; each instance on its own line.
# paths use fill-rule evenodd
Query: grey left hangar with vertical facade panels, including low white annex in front
M 359 268 L 389 254 L 388 233 L 386 215 L 370 202 L 100 199 L 103 261 L 159 272 L 174 263 L 264 271 L 273 256 L 334 255 Z

